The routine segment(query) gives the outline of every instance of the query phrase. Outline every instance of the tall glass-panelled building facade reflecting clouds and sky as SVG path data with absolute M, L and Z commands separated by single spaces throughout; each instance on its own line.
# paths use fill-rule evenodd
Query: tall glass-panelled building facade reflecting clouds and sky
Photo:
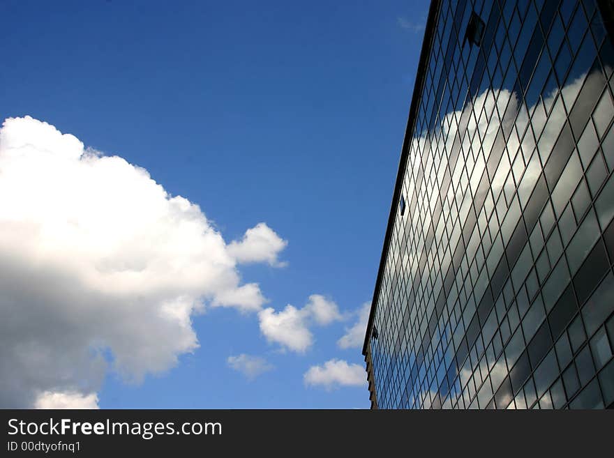
M 373 408 L 614 405 L 612 6 L 432 2 L 363 349 Z

